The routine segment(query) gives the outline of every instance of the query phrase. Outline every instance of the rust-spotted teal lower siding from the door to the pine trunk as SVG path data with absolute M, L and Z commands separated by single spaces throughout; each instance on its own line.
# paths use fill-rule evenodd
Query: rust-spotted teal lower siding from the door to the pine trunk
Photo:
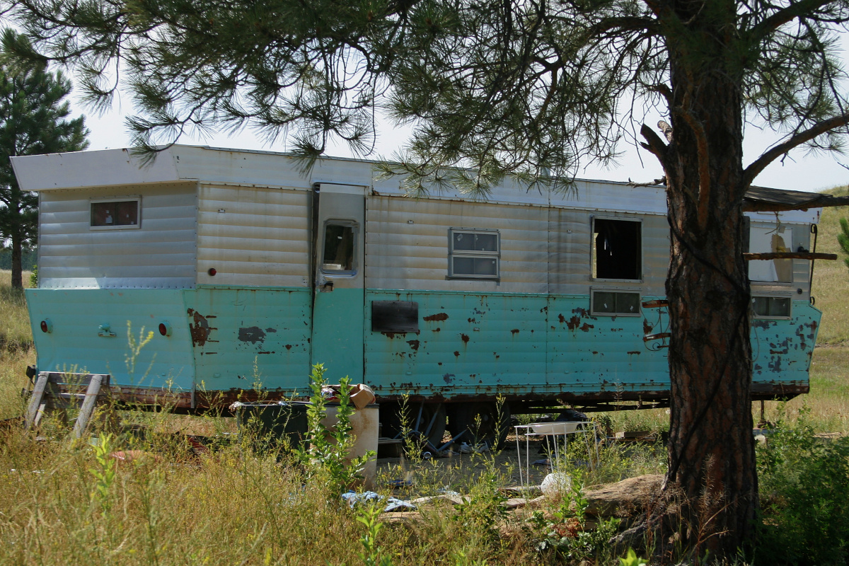
M 419 303 L 419 334 L 367 330 L 368 383 L 384 395 L 668 389 L 665 351 L 644 345 L 643 317 L 590 317 L 586 295 L 372 291 L 372 300 Z

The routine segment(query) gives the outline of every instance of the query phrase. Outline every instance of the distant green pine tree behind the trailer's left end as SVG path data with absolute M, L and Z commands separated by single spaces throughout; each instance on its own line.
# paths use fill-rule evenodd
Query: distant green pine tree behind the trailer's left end
M 43 65 L 18 70 L 0 65 L 0 238 L 11 243 L 13 288 L 23 286 L 23 248 L 37 241 L 38 199 L 20 190 L 9 158 L 87 147 L 82 116 L 65 120 L 70 88 L 61 72 Z

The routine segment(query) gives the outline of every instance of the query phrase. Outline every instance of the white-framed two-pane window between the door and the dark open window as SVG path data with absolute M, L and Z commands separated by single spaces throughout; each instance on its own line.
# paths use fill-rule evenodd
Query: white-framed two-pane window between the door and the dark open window
M 498 230 L 451 228 L 448 238 L 448 277 L 498 279 Z

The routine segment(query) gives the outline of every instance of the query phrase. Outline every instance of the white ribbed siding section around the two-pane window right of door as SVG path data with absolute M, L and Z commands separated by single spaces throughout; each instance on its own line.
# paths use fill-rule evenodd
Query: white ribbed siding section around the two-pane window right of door
M 448 279 L 448 230 L 497 229 L 500 282 Z M 366 203 L 366 287 L 476 293 L 545 293 L 548 289 L 548 211 L 403 197 Z

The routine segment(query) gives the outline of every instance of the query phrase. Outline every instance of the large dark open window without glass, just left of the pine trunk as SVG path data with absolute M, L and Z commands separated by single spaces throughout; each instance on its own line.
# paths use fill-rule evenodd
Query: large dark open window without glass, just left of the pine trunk
M 593 219 L 593 277 L 632 281 L 643 277 L 640 221 Z

